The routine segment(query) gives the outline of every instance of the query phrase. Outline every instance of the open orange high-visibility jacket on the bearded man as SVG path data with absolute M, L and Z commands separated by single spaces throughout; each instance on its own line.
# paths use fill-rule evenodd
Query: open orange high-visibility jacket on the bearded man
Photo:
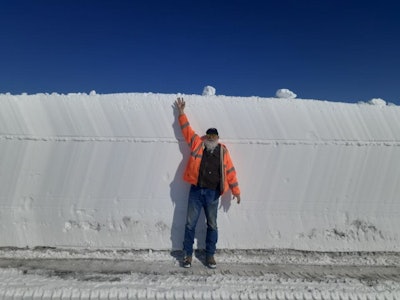
M 204 143 L 203 137 L 198 136 L 192 127 L 185 114 L 179 116 L 179 124 L 182 129 L 183 137 L 190 147 L 190 157 L 188 164 L 183 174 L 183 179 L 193 185 L 197 185 L 197 180 L 200 172 L 201 158 L 203 157 Z M 236 170 L 233 166 L 232 159 L 228 149 L 221 144 L 221 195 L 228 189 L 231 189 L 232 194 L 240 195 L 239 184 L 236 178 Z

